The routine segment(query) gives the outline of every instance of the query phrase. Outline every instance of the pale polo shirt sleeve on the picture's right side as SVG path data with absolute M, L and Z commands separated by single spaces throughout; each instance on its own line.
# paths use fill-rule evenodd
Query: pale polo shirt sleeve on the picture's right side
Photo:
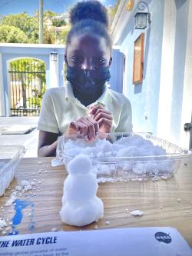
M 132 132 L 132 110 L 131 103 L 127 98 L 124 98 L 124 104 L 121 108 L 121 115 L 118 127 L 115 132 Z

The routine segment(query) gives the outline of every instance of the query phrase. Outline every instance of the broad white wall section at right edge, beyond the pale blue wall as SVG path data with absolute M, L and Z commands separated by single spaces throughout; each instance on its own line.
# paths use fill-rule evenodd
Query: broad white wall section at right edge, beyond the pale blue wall
M 192 113 L 192 2 L 164 2 L 164 34 L 157 136 L 189 148 L 184 123 Z

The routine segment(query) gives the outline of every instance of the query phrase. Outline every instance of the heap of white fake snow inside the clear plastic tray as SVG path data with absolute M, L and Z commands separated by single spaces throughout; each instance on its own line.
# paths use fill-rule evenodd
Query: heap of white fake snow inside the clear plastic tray
M 161 174 L 164 177 L 165 173 L 169 176 L 174 171 L 174 162 L 166 157 L 166 150 L 139 135 L 122 137 L 114 143 L 106 139 L 92 142 L 78 139 L 65 143 L 65 156 L 74 158 L 80 154 L 88 155 L 93 160 L 94 173 L 97 175 L 110 175 L 115 171 L 124 170 L 135 175 Z M 157 156 L 160 156 L 159 161 Z M 114 164 L 101 163 L 99 158 L 103 158 L 102 161 L 105 158 L 105 163 L 114 161 Z

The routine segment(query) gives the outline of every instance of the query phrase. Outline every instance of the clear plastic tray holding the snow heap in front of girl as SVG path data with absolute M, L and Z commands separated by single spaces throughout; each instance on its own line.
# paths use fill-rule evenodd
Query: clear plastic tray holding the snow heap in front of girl
M 134 156 L 109 156 L 92 157 L 94 169 L 98 174 L 99 181 L 129 181 L 144 180 L 147 178 L 169 178 L 180 166 L 180 161 L 184 158 L 192 158 L 192 152 L 184 148 L 180 148 L 168 141 L 157 138 L 148 133 L 113 133 L 108 134 L 108 138 L 113 143 L 122 137 L 131 138 L 139 135 L 145 140 L 151 141 L 153 145 L 164 148 L 164 155 L 134 155 Z M 65 151 L 65 143 L 68 139 L 73 141 L 84 140 L 81 135 L 74 135 L 72 138 L 61 136 L 58 140 L 57 158 L 68 164 L 75 155 L 68 155 Z M 89 146 L 89 143 L 88 143 Z

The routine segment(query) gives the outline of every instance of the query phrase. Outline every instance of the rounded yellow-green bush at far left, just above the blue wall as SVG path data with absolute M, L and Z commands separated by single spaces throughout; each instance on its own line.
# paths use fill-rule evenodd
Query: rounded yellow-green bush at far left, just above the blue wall
M 28 37 L 20 28 L 15 28 L 11 25 L 0 25 L 0 42 L 27 43 Z

